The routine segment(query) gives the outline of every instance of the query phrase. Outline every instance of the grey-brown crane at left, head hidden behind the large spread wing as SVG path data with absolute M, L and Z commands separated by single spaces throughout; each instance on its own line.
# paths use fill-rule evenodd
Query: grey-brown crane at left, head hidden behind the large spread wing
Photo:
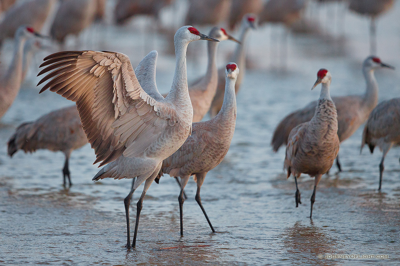
M 12 157 L 18 150 L 35 152 L 47 149 L 63 152 L 65 155 L 64 187 L 66 177 L 72 185 L 68 161 L 73 150 L 88 143 L 76 110 L 76 105 L 61 108 L 41 116 L 36 121 L 23 123 L 8 140 L 8 155 Z

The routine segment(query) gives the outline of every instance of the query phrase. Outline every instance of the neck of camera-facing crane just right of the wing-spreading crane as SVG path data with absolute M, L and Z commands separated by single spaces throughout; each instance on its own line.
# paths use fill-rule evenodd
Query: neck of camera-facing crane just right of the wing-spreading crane
M 215 116 L 222 126 L 236 121 L 236 95 L 235 95 L 236 78 L 226 77 L 224 102 L 221 110 Z

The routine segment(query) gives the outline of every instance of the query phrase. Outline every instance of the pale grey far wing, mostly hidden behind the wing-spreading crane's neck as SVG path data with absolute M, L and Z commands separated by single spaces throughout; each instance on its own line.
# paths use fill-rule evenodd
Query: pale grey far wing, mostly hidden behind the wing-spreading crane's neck
M 140 86 L 153 99 L 160 101 L 164 97 L 158 92 L 156 85 L 156 63 L 157 51 L 153 50 L 148 53 L 135 69 L 135 75 L 138 78 Z

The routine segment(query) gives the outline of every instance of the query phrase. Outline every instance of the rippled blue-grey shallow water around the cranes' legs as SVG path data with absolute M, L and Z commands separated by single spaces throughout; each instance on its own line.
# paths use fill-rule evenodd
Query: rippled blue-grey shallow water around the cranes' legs
M 321 14 L 334 8 L 328 6 Z M 382 61 L 397 69 L 400 68 L 399 11 L 397 3 L 395 10 L 378 22 L 378 54 Z M 325 18 L 322 21 L 326 25 L 324 31 L 337 40 L 337 29 Z M 140 23 L 131 26 L 138 31 L 138 25 L 145 24 Z M 146 194 L 137 248 L 131 251 L 123 248 L 126 243 L 123 199 L 130 190 L 130 180 L 91 181 L 98 169 L 92 165 L 95 156 L 89 145 L 72 153 L 70 168 L 74 185 L 70 189 L 62 187 L 61 153 L 43 150 L 34 154 L 18 152 L 13 158 L 6 155 L 6 142 L 18 124 L 71 104 L 49 91 L 38 94 L 39 89 L 34 87 L 38 81 L 34 78 L 38 73 L 36 68 L 2 118 L 0 127 L 3 147 L 0 149 L 0 265 L 393 265 L 398 262 L 397 149 L 392 149 L 386 157 L 382 193 L 377 193 L 381 153 L 376 149 L 371 155 L 364 149 L 360 155 L 362 128 L 343 142 L 340 160 L 344 171 L 336 173 L 334 166 L 329 176 L 322 177 L 310 221 L 309 198 L 314 179 L 306 175 L 299 179 L 302 204 L 296 208 L 294 180 L 286 179 L 282 171 L 284 149 L 274 154 L 270 148 L 272 132 L 280 119 L 318 98 L 319 90 L 310 89 L 321 67 L 332 73 L 332 95 L 364 92 L 361 62 L 368 50 L 368 21 L 348 14 L 345 26 L 338 46 L 329 45 L 320 37 L 292 35 L 286 71 L 276 70 L 278 63 L 271 60 L 275 55 L 266 51 L 270 43 L 276 45 L 270 41 L 270 33 L 279 35 L 282 29 L 268 26 L 251 34 L 248 50 L 253 68 L 248 69 L 237 97 L 232 145 L 224 161 L 208 173 L 202 186 L 202 202 L 217 232 L 211 233 L 194 200 L 196 185 L 191 180 L 185 188 L 189 197 L 184 203 L 185 236 L 180 237 L 179 189 L 174 179 L 164 176 Z M 92 45 L 92 49 L 122 51 L 136 65 L 147 47 L 142 42 L 136 43 L 139 35 L 128 30 L 128 27 L 100 29 L 99 35 L 121 37 L 103 43 L 86 33 L 86 45 Z M 165 92 L 172 81 L 174 57 L 163 53 L 162 47 L 167 42 L 163 37 L 154 39 L 159 51 L 157 84 Z M 234 45 L 224 42 L 220 47 L 221 51 L 230 51 Z M 189 52 L 204 54 L 204 48 L 204 43 L 200 43 L 189 46 Z M 7 57 L 3 53 L 4 59 Z M 223 65 L 223 56 L 220 59 Z M 203 73 L 205 63 L 204 56 L 194 59 L 188 55 L 189 80 Z M 399 70 L 376 71 L 376 77 L 380 100 L 398 97 Z M 131 225 L 140 189 L 132 200 Z M 210 246 L 161 249 L 197 245 Z M 326 259 L 326 254 L 379 254 L 388 258 Z

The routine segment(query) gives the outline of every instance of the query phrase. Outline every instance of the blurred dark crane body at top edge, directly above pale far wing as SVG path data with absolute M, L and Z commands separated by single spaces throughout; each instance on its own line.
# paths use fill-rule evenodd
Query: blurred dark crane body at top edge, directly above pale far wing
M 114 17 L 117 24 L 123 24 L 132 16 L 149 15 L 159 18 L 160 11 L 173 0 L 118 0 Z

